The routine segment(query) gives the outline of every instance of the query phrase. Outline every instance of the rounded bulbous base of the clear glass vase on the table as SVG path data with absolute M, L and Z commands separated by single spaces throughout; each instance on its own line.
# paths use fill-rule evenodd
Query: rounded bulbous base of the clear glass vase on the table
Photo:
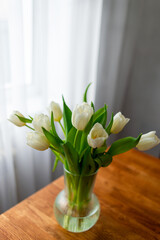
M 68 207 L 65 191 L 61 191 L 54 202 L 54 215 L 57 222 L 70 232 L 85 232 L 95 225 L 99 218 L 100 205 L 94 193 L 85 216 L 75 216 L 74 211 Z

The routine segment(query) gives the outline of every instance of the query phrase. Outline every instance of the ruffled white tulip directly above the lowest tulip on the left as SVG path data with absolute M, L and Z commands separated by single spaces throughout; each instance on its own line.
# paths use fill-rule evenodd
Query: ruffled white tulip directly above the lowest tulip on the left
M 47 115 L 35 114 L 33 119 L 33 127 L 37 132 L 43 133 L 42 127 L 44 127 L 47 131 L 51 130 L 51 123 L 49 121 L 49 117 Z

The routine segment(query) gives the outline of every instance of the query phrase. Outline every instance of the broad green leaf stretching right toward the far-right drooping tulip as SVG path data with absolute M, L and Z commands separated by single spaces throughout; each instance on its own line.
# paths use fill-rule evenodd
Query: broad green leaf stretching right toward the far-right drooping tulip
M 130 149 L 136 147 L 136 145 L 138 144 L 141 136 L 142 136 L 142 134 L 140 134 L 137 138 L 126 137 L 126 138 L 122 138 L 120 140 L 117 140 L 111 145 L 111 147 L 110 147 L 110 149 L 108 150 L 107 153 L 114 156 L 114 155 L 118 155 L 120 153 L 127 152 Z

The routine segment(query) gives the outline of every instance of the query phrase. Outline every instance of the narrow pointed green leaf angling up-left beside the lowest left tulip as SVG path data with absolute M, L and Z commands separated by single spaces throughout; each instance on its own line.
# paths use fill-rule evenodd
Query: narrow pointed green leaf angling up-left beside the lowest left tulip
M 53 145 L 54 148 L 58 149 L 61 153 L 63 153 L 63 148 L 61 146 L 61 141 L 54 136 L 52 133 L 48 132 L 44 127 L 42 127 L 43 133 L 48 139 L 48 141 Z

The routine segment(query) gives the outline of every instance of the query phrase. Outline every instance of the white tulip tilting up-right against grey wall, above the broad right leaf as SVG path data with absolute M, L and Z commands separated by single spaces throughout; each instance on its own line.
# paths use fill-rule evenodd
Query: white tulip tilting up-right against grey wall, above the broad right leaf
M 119 133 L 125 127 L 125 125 L 129 122 L 129 118 L 125 118 L 125 116 L 118 112 L 113 118 L 113 125 L 111 127 L 111 133 Z

